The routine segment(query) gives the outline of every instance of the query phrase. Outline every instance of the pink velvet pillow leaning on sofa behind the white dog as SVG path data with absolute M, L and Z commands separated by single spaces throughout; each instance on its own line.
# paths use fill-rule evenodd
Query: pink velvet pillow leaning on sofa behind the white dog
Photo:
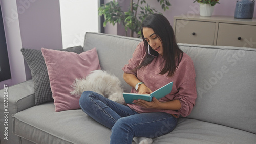
M 76 78 L 83 78 L 91 71 L 100 69 L 96 48 L 80 54 L 44 48 L 41 51 L 48 70 L 55 111 L 80 108 L 79 97 L 70 94 L 70 86 Z

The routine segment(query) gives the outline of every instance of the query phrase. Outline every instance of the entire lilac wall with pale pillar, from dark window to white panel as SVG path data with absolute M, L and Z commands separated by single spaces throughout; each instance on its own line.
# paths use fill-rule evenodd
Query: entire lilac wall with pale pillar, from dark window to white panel
M 20 49 L 62 48 L 59 1 L 0 1 L 12 78 L 0 82 L 15 85 L 31 79 Z

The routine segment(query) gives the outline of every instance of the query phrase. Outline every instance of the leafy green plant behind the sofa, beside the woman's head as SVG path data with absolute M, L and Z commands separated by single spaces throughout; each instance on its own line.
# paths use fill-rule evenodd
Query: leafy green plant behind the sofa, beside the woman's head
M 169 9 L 169 0 L 157 0 L 157 2 L 160 3 L 164 11 Z M 138 13 L 138 8 L 140 8 L 140 13 Z M 137 3 L 131 0 L 129 10 L 126 12 L 122 10 L 122 7 L 115 0 L 101 5 L 98 11 L 100 16 L 104 15 L 104 27 L 106 23 L 111 23 L 112 25 L 121 23 L 124 26 L 126 36 L 128 36 L 128 29 L 131 30 L 130 37 L 133 37 L 134 32 L 140 37 L 141 22 L 148 15 L 157 13 L 157 10 L 151 8 L 145 0 L 138 0 Z

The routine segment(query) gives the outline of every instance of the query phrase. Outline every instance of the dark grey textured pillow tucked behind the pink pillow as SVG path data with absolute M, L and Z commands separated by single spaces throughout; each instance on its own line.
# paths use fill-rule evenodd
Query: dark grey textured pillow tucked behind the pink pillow
M 48 71 L 41 50 L 22 48 L 21 51 L 28 63 L 34 81 L 35 105 L 53 101 Z M 82 46 L 70 47 L 60 51 L 75 52 L 77 54 L 83 52 Z

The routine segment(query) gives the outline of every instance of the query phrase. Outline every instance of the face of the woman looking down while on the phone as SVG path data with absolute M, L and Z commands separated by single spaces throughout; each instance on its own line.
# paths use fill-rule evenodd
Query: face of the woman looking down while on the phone
M 161 40 L 157 37 L 153 29 L 148 27 L 143 27 L 143 35 L 145 40 L 148 42 L 150 47 L 163 56 L 163 46 Z

